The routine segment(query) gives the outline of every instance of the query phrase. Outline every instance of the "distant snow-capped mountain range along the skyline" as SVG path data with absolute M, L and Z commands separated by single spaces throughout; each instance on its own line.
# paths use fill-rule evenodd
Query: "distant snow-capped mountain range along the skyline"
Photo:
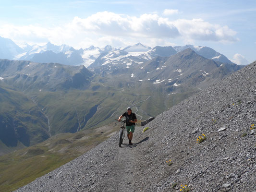
M 117 50 L 123 50 L 128 52 L 128 56 L 132 56 L 128 58 L 128 60 L 133 60 L 133 57 L 138 57 L 134 61 L 139 60 L 137 62 L 142 62 L 146 60 L 151 60 L 152 58 L 157 56 L 169 57 L 186 48 L 191 48 L 197 54 L 207 59 L 232 64 L 232 61 L 228 60 L 228 58 L 226 58 L 223 54 L 220 54 L 212 48 L 193 45 L 176 47 L 156 46 L 154 48 L 151 48 L 141 43 L 137 43 L 132 46 L 118 49 L 112 48 L 110 45 L 107 45 L 104 48 L 90 46 L 89 48 L 85 49 L 74 49 L 73 47 L 65 44 L 57 46 L 48 42 L 43 46 L 31 46 L 28 44 L 22 44 L 21 47 L 16 45 L 11 39 L 5 39 L 1 37 L 0 48 L 5 54 L 0 56 L 0 59 L 31 60 L 36 62 L 45 62 L 45 58 L 48 58 L 47 62 L 60 62 L 61 64 L 66 65 L 85 65 L 85 67 L 89 67 L 100 56 L 100 54 L 109 53 L 111 55 L 111 53 L 114 53 Z M 58 58 L 58 61 L 56 61 L 56 57 Z

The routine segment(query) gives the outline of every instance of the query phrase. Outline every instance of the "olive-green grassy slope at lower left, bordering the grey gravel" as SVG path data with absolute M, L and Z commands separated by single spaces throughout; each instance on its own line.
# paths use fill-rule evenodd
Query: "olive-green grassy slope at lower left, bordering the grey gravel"
M 0 192 L 15 190 L 60 167 L 109 138 L 119 127 L 119 123 L 113 122 L 97 129 L 61 133 L 43 143 L 0 156 Z

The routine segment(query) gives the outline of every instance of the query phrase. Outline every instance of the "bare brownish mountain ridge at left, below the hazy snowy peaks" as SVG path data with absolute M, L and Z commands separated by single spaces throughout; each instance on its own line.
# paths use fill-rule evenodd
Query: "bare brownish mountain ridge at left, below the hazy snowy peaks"
M 73 69 L 73 70 L 71 70 Z M 88 86 L 93 74 L 84 66 L 68 66 L 59 63 L 0 60 L 0 76 L 21 90 L 37 91 Z

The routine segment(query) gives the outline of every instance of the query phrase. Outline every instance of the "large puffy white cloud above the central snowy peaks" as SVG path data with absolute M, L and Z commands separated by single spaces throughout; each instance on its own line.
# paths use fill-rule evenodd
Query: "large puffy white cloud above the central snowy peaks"
M 85 19 L 75 17 L 72 22 L 87 32 L 108 36 L 134 37 L 177 37 L 177 28 L 168 19 L 157 14 L 143 14 L 140 17 L 98 12 Z

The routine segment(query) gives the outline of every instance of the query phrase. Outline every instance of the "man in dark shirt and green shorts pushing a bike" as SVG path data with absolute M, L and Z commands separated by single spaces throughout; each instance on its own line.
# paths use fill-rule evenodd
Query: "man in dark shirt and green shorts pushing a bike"
M 137 122 L 137 117 L 135 113 L 132 112 L 132 108 L 127 108 L 127 112 L 123 113 L 118 121 L 120 121 L 123 117 L 126 119 L 126 130 L 127 130 L 127 137 L 129 139 L 129 145 L 132 144 L 132 139 L 133 139 L 133 132 L 135 129 L 135 122 Z

